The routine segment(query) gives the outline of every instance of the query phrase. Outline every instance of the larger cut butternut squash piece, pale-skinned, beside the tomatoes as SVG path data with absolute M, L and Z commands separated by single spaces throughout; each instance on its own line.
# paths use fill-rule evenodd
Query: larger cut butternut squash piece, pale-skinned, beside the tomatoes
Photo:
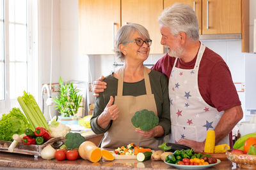
M 79 155 L 86 160 L 91 162 L 98 162 L 102 157 L 102 152 L 91 141 L 84 141 L 78 148 Z

